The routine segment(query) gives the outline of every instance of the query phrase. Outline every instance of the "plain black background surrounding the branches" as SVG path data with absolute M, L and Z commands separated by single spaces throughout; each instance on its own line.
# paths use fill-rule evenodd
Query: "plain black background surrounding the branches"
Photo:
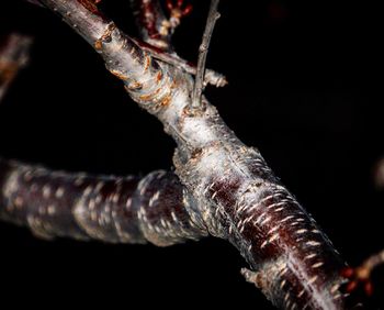
M 103 1 L 104 12 L 136 35 L 128 1 Z M 195 60 L 207 1 L 192 3 L 174 45 Z M 0 5 L 1 33 L 36 37 L 30 66 L 0 104 L 0 156 L 117 175 L 171 167 L 171 139 L 81 37 L 47 10 L 14 0 Z M 223 0 L 221 12 L 208 67 L 229 85 L 208 88 L 208 99 L 259 147 L 345 258 L 359 264 L 384 247 L 384 195 L 373 182 L 384 155 L 381 8 Z M 219 240 L 169 248 L 45 242 L 0 224 L 1 302 L 15 306 L 271 309 L 239 275 L 244 266 Z

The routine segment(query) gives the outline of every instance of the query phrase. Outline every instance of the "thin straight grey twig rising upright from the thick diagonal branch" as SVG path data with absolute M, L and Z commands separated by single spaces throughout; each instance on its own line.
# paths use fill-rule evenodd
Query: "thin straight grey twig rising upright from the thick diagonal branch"
M 208 53 L 208 46 L 210 46 L 213 29 L 215 27 L 216 21 L 221 16 L 219 13 L 217 12 L 218 2 L 219 0 L 211 0 L 210 13 L 206 20 L 203 41 L 199 47 L 196 78 L 194 81 L 194 87 L 192 92 L 193 109 L 199 109 L 201 107 L 201 97 L 204 89 L 206 55 Z

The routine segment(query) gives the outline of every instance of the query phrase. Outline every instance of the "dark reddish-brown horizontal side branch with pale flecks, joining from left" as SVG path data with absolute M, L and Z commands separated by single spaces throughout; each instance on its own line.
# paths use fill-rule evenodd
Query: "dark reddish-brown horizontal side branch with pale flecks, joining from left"
M 171 245 L 206 235 L 171 173 L 90 176 L 0 160 L 0 218 L 44 239 Z

